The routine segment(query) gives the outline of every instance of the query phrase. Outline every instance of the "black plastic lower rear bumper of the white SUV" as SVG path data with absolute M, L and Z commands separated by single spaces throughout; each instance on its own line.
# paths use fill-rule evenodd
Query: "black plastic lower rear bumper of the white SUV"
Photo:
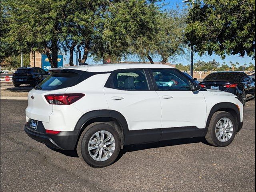
M 32 130 L 27 124 L 24 130 L 32 139 L 40 143 L 44 143 L 52 148 L 62 150 L 74 150 L 80 133 L 80 130 L 74 130 L 61 131 L 60 133 L 54 135 L 47 134 L 44 127 L 42 127 L 42 122 L 39 122 L 36 130 Z

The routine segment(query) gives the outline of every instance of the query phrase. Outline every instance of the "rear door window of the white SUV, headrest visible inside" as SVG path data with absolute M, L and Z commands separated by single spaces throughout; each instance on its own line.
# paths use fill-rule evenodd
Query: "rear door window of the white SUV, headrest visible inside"
M 149 90 L 144 70 L 114 72 L 110 88 L 120 90 Z

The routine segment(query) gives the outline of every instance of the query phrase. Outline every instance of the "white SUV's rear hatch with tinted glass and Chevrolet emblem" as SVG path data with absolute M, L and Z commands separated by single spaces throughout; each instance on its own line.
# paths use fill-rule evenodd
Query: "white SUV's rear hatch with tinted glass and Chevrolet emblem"
M 52 72 L 50 76 L 28 93 L 26 116 L 30 119 L 49 122 L 53 105 L 46 101 L 45 96 L 64 93 L 70 86 L 81 82 L 84 73 L 80 70 L 67 69 L 50 70 L 50 72 Z

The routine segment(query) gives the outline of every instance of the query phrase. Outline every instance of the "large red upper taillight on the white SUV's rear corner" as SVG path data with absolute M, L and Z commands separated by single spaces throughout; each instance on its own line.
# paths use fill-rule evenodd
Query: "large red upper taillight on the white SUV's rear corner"
M 45 95 L 47 102 L 52 105 L 70 105 L 80 98 L 82 98 L 84 94 L 82 93 L 71 93 L 71 94 L 53 94 L 53 95 Z

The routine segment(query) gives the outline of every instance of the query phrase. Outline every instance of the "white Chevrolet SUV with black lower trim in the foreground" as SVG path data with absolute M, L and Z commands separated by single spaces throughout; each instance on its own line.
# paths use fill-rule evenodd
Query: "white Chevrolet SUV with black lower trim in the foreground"
M 77 150 L 92 167 L 112 164 L 124 145 L 205 137 L 227 146 L 242 128 L 235 95 L 200 89 L 159 64 L 50 70 L 28 94 L 25 132 L 52 148 Z

